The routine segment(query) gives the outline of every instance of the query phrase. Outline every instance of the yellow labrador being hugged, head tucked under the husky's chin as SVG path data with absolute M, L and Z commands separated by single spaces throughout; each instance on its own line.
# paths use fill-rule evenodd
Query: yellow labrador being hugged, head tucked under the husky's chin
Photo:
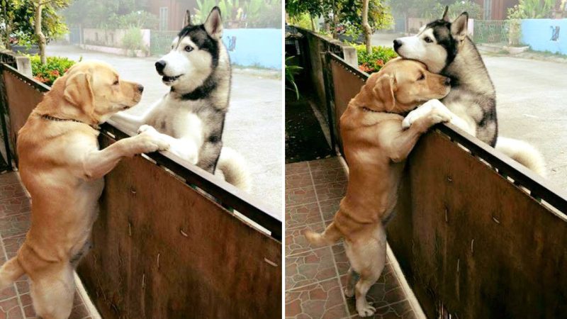
M 385 224 L 398 201 L 405 159 L 432 125 L 451 120 L 451 112 L 437 100 L 447 96 L 449 82 L 420 62 L 395 59 L 369 77 L 340 118 L 349 164 L 347 195 L 325 232 L 305 236 L 315 246 L 344 238 L 351 265 L 344 293 L 356 296 L 361 317 L 376 311 L 366 293 L 386 264 Z M 420 108 L 427 113 L 404 130 L 400 114 L 424 102 Z

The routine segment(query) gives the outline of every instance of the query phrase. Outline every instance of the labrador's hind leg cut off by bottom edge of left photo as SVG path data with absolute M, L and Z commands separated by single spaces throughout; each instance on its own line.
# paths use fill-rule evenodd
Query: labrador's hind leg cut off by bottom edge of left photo
M 71 315 L 75 285 L 70 264 L 60 271 L 43 272 L 30 285 L 35 313 L 43 319 L 67 319 Z

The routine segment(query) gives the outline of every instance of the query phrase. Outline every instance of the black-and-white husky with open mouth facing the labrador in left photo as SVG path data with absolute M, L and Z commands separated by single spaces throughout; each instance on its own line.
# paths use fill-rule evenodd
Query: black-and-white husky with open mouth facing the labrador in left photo
M 245 159 L 223 147 L 223 129 L 230 96 L 230 57 L 222 41 L 223 21 L 215 6 L 205 23 L 184 28 L 172 48 L 155 62 L 162 82 L 171 89 L 142 116 L 117 113 L 114 121 L 132 132 L 155 128 L 171 137 L 170 151 L 211 174 L 218 168 L 230 184 L 249 190 Z

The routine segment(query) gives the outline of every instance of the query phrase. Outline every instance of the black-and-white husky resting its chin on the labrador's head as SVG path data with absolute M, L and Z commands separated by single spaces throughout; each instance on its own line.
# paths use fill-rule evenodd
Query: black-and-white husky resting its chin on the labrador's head
M 454 113 L 451 123 L 545 177 L 544 158 L 532 145 L 498 137 L 496 91 L 481 54 L 467 35 L 468 13 L 451 23 L 447 11 L 445 7 L 443 17 L 422 27 L 417 35 L 395 39 L 395 52 L 451 79 L 451 91 L 441 100 Z M 417 108 L 403 126 L 409 127 L 426 113 L 427 109 Z

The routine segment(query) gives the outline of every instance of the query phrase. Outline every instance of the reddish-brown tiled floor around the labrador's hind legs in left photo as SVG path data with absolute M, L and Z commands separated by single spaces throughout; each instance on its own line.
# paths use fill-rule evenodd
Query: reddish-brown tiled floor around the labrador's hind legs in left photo
M 15 172 L 0 174 L 0 262 L 16 256 L 30 227 L 30 200 Z M 0 319 L 36 318 L 26 276 L 0 291 Z M 70 319 L 91 318 L 75 293 Z

